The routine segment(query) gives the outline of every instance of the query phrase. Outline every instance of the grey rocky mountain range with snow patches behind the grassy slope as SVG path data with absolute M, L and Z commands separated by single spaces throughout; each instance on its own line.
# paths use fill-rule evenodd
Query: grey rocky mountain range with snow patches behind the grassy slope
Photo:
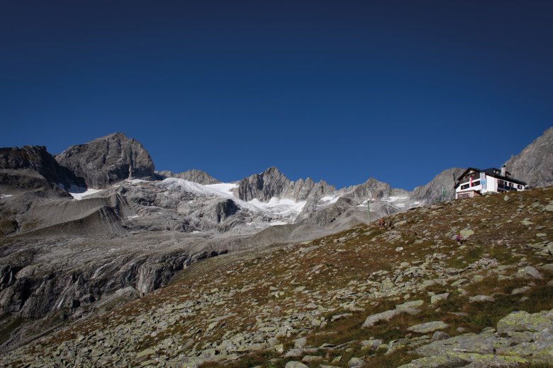
M 551 131 L 513 158 L 516 170 L 535 162 L 528 156 L 537 150 L 551 154 Z M 524 166 L 519 177 L 534 178 L 535 168 L 551 173 L 544 162 Z M 0 149 L 0 313 L 9 316 L 0 330 L 26 318 L 0 348 L 113 298 L 150 293 L 197 260 L 367 222 L 367 202 L 372 221 L 439 202 L 442 186 L 452 188 L 462 171 L 450 168 L 411 192 L 374 178 L 336 189 L 289 180 L 275 167 L 233 183 L 198 170 L 157 172 L 142 144 L 122 133 L 56 156 L 43 146 Z M 548 178 L 536 183 L 551 185 Z

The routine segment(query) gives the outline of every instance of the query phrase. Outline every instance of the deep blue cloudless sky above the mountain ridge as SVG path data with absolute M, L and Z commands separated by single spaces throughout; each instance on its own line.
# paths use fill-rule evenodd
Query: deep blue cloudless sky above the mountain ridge
M 553 1 L 0 0 L 0 146 L 411 189 L 553 116 Z

